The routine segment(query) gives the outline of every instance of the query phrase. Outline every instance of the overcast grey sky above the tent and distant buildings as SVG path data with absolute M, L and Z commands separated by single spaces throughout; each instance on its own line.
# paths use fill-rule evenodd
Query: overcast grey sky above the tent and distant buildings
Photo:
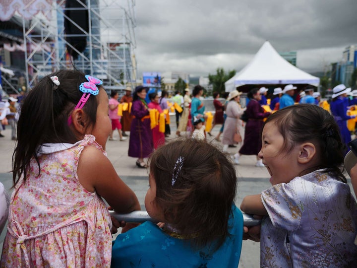
M 137 0 L 135 13 L 139 76 L 239 71 L 265 40 L 322 71 L 357 45 L 357 0 Z

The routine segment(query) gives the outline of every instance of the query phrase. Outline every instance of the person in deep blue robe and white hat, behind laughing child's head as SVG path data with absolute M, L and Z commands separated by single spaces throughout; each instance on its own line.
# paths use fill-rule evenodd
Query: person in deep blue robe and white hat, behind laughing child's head
M 339 84 L 332 89 L 332 92 L 331 114 L 339 126 L 342 140 L 345 142 L 347 148 L 349 148 L 348 143 L 351 141 L 351 133 L 347 128 L 347 120 L 356 118 L 355 115 L 347 115 L 348 101 L 346 97 L 347 93 L 351 92 L 351 88 L 346 88 L 344 84 Z

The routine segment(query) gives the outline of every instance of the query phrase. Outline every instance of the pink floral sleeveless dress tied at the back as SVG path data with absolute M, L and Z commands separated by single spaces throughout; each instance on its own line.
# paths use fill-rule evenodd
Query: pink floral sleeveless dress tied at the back
M 41 147 L 26 182 L 11 196 L 0 267 L 110 267 L 112 222 L 104 201 L 78 181 L 84 146 L 102 149 L 92 135 L 75 144 Z

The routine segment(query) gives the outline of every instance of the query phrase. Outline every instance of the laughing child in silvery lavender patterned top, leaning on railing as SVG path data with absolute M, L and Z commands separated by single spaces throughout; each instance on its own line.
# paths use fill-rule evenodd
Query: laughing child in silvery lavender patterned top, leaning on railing
M 316 105 L 288 106 L 268 117 L 262 142 L 272 187 L 240 206 L 264 216 L 260 267 L 355 267 L 357 204 L 333 117 Z

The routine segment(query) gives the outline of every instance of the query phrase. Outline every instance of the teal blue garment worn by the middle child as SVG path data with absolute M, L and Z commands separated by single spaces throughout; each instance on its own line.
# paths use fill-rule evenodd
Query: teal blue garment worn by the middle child
M 115 268 L 216 268 L 238 267 L 243 235 L 243 216 L 233 205 L 229 220 L 231 234 L 214 253 L 208 247 L 195 251 L 186 239 L 166 234 L 156 224 L 146 221 L 119 234 L 113 245 L 112 267 Z M 219 228 L 219 226 L 217 226 Z

